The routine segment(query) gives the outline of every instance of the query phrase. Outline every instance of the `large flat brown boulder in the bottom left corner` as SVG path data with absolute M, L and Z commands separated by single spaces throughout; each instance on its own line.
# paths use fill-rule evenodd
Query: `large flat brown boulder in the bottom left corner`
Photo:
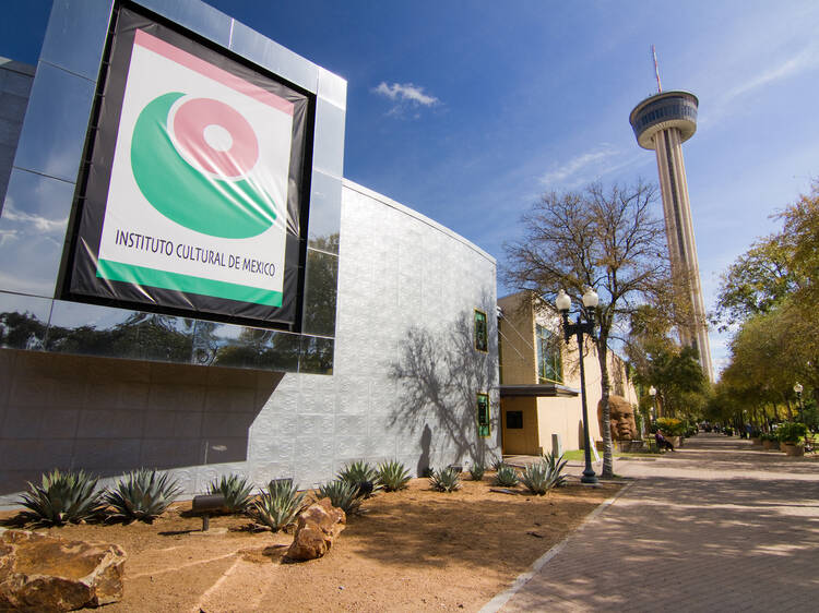
M 0 534 L 0 611 L 72 611 L 122 598 L 126 552 L 26 530 Z

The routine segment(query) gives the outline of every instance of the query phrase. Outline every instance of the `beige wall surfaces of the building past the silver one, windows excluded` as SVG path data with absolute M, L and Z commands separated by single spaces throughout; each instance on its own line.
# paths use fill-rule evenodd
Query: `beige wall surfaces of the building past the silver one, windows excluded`
M 537 383 L 537 366 L 535 351 L 535 324 L 551 327 L 562 334 L 560 322 L 548 311 L 535 313 L 525 293 L 514 293 L 498 300 L 503 312 L 500 321 L 501 344 L 501 383 L 507 385 L 524 385 Z M 562 346 L 563 385 L 580 389 L 580 368 L 578 363 L 578 346 L 572 339 Z M 625 363 L 615 353 L 608 353 L 608 371 L 612 381 L 612 393 L 621 392 L 632 405 L 637 404 L 637 393 L 633 385 L 625 376 Z M 585 369 L 586 398 L 589 407 L 589 434 L 593 441 L 602 438 L 597 423 L 597 402 L 602 396 L 601 371 L 595 348 L 589 346 L 583 360 Z M 619 372 L 618 372 L 619 371 Z M 616 384 L 615 382 L 619 382 Z M 617 388 L 617 389 L 616 389 Z M 621 388 L 621 389 L 620 389 Z M 563 449 L 579 449 L 582 447 L 582 405 L 581 396 L 537 398 L 534 401 L 537 413 L 537 428 L 532 429 L 526 421 L 524 411 L 524 430 L 520 433 L 512 431 L 514 438 L 510 438 L 510 431 L 503 431 L 505 454 L 522 453 L 519 441 L 525 440 L 527 453 L 550 453 L 551 435 L 559 434 Z M 521 410 L 522 399 L 505 398 L 501 400 L 502 410 Z M 505 416 L 501 416 L 506 423 Z M 509 441 L 511 446 L 507 445 Z M 509 447 L 509 450 L 507 449 Z

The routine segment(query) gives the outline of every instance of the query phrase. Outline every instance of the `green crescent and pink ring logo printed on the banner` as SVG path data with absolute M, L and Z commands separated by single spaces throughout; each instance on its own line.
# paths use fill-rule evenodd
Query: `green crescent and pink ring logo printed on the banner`
M 205 235 L 244 239 L 273 225 L 276 205 L 253 170 L 259 139 L 221 100 L 164 94 L 140 112 L 131 169 L 142 195 L 168 219 Z

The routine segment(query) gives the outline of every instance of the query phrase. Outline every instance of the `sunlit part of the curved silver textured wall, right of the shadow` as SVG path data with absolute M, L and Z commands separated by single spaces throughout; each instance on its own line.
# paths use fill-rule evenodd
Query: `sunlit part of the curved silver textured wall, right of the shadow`
M 341 228 L 334 373 L 284 375 L 251 428 L 257 480 L 293 474 L 307 486 L 359 458 L 397 458 L 415 471 L 420 465 L 468 462 L 484 447 L 499 455 L 494 259 L 348 181 Z M 489 314 L 487 354 L 471 346 L 474 309 Z M 464 314 L 468 328 L 459 335 Z M 414 350 L 413 328 L 435 345 L 435 381 L 446 388 L 437 402 L 431 389 L 412 381 L 420 373 L 410 369 L 407 377 L 395 376 L 405 352 Z M 464 338 L 468 347 L 459 345 Z M 452 372 L 462 370 L 453 368 L 453 354 L 480 374 L 464 381 L 463 373 Z M 477 392 L 492 399 L 492 435 L 483 442 L 475 426 Z M 282 436 L 265 437 L 271 431 Z

